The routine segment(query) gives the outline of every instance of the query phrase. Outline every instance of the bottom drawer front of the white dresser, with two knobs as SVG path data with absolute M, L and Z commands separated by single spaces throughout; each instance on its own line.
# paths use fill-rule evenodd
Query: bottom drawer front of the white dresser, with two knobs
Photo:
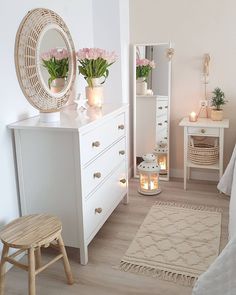
M 127 182 L 120 182 L 122 179 L 126 179 L 125 162 L 94 195 L 85 201 L 84 229 L 86 240 L 90 240 L 91 236 L 93 237 L 98 232 L 127 191 Z

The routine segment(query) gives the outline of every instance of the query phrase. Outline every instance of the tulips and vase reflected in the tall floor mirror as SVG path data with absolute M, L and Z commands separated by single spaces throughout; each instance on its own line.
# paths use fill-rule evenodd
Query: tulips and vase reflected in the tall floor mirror
M 147 78 L 154 68 L 154 61 L 147 58 L 136 59 L 136 94 L 145 95 L 147 93 Z

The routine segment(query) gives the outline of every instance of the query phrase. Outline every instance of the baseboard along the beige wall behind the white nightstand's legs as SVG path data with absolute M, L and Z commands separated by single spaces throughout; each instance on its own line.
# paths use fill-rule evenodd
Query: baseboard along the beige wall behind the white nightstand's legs
M 170 176 L 175 178 L 183 178 L 183 169 L 170 169 Z M 219 181 L 219 172 L 210 169 L 194 169 L 191 168 L 191 179 L 195 180 L 209 180 L 209 181 Z

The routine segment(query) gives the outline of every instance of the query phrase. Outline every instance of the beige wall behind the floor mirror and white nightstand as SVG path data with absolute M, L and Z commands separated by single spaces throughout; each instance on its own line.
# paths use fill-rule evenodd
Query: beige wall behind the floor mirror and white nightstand
M 230 119 L 225 133 L 225 164 L 236 141 L 236 34 L 234 0 L 130 0 L 131 43 L 173 41 L 170 167 L 174 175 L 183 169 L 183 130 L 179 120 L 198 110 L 204 96 L 202 57 L 210 53 L 209 92 L 225 91 L 224 107 Z

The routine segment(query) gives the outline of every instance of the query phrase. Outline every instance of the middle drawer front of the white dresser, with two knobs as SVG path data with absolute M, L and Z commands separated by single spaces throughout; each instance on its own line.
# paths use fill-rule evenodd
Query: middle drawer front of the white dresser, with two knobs
M 125 137 L 83 171 L 83 195 L 87 196 L 126 158 Z

